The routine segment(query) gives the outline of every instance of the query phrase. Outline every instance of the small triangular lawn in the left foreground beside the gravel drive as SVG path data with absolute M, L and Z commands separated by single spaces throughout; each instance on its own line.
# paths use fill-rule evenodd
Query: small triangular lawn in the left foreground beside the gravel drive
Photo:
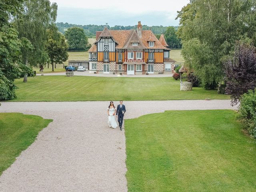
M 0 175 L 50 122 L 35 115 L 0 113 Z

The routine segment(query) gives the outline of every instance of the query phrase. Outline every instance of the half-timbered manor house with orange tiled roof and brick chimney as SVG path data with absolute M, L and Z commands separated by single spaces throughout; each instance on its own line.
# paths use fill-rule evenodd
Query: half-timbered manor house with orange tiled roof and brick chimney
M 90 73 L 159 74 L 170 72 L 175 61 L 161 35 L 151 30 L 108 30 L 96 32 L 96 42 L 88 50 Z

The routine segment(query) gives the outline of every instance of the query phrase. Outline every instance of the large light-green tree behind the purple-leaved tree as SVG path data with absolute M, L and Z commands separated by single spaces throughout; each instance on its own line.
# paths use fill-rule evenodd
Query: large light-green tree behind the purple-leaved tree
M 191 0 L 178 12 L 182 56 L 204 87 L 223 80 L 223 63 L 237 41 L 250 38 L 255 45 L 255 7 L 254 0 Z

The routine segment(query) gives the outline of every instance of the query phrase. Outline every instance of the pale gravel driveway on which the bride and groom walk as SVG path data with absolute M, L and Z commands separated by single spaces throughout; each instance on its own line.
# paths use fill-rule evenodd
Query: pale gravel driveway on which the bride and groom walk
M 107 126 L 109 102 L 2 102 L 53 122 L 0 176 L 1 192 L 126 192 L 124 130 Z M 118 102 L 114 102 L 115 105 Z M 124 101 L 127 118 L 164 110 L 236 109 L 230 100 Z

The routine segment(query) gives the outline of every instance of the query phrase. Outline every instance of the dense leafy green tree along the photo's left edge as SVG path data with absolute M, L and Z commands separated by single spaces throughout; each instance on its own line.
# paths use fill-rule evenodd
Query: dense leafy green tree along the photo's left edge
M 18 32 L 12 24 L 22 9 L 23 0 L 0 1 L 0 100 L 16 97 L 14 79 L 32 69 L 22 64 L 21 48 L 31 48 L 31 43 L 18 38 Z

